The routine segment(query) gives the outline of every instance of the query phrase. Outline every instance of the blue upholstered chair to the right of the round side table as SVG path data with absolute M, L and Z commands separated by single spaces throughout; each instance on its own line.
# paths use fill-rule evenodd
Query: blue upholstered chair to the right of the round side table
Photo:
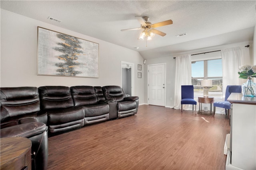
M 230 119 L 231 103 L 227 101 L 228 97 L 230 96 L 231 93 L 241 93 L 241 92 L 242 92 L 241 86 L 227 86 L 226 93 L 225 93 L 225 101 L 215 102 L 213 104 L 213 115 L 215 114 L 216 107 L 221 107 L 225 109 L 227 118 Z

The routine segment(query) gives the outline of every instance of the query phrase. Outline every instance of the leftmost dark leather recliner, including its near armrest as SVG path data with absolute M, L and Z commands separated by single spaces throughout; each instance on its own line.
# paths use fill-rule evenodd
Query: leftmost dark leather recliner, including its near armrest
M 40 112 L 36 87 L 1 88 L 1 138 L 26 137 L 32 141 L 32 169 L 48 165 L 47 113 Z

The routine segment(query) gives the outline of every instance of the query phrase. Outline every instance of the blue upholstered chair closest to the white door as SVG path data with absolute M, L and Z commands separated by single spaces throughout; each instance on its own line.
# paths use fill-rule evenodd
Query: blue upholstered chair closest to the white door
M 194 100 L 193 85 L 181 86 L 181 110 L 180 110 L 181 113 L 182 113 L 183 104 L 192 104 L 193 110 L 194 110 L 194 105 L 196 105 L 196 100 Z M 195 106 L 195 110 L 196 110 L 196 106 Z

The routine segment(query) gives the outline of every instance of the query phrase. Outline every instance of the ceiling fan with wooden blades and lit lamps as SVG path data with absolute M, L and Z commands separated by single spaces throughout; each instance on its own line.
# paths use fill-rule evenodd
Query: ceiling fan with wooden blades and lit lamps
M 152 39 L 152 37 L 154 37 L 154 33 L 161 35 L 162 37 L 165 36 L 166 33 L 159 31 L 157 29 L 154 29 L 154 28 L 172 24 L 172 20 L 166 20 L 166 21 L 152 24 L 151 22 L 148 22 L 148 19 L 149 19 L 148 16 L 144 16 L 144 17 L 135 16 L 135 18 L 140 22 L 140 24 L 141 24 L 140 28 L 121 29 L 121 31 L 144 29 L 144 31 L 142 31 L 142 33 L 140 33 L 140 37 L 138 38 L 141 40 L 143 40 L 144 37 L 147 37 L 147 40 Z

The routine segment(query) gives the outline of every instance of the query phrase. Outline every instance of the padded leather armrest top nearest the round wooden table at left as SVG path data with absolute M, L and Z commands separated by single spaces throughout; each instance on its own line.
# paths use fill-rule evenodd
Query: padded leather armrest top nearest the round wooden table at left
M 41 122 L 30 122 L 1 129 L 2 137 L 33 137 L 47 131 L 46 124 Z

